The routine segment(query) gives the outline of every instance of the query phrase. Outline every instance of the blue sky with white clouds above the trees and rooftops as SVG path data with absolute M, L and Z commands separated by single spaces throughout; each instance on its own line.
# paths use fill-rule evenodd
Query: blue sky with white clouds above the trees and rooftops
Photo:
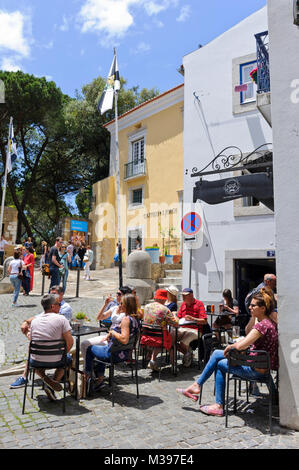
M 0 69 L 44 76 L 61 90 L 106 77 L 117 48 L 127 86 L 161 93 L 183 82 L 184 55 L 266 0 L 0 0 Z

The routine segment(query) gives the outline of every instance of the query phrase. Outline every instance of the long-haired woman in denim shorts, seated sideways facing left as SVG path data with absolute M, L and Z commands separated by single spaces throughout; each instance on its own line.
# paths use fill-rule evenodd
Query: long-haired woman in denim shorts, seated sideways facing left
M 101 361 L 110 363 L 111 361 L 111 347 L 112 345 L 127 345 L 132 338 L 138 333 L 138 322 L 136 319 L 137 314 L 137 304 L 136 298 L 132 294 L 127 294 L 121 299 L 121 304 L 123 311 L 125 313 L 124 318 L 121 321 L 120 326 L 116 326 L 114 329 L 111 329 L 106 336 L 107 345 L 93 345 L 89 346 L 86 351 L 86 367 L 85 367 L 85 376 L 87 383 L 87 390 L 90 387 L 91 382 L 91 368 L 94 358 L 98 358 Z M 121 349 L 114 353 L 113 362 L 124 362 L 128 360 L 130 355 L 129 350 L 122 351 Z M 97 364 L 97 383 L 94 387 L 94 390 L 97 391 L 104 386 L 104 373 L 105 373 L 105 364 Z

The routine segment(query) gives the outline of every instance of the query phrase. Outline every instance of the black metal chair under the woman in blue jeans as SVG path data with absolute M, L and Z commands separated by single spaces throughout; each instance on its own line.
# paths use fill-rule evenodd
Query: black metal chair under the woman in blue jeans
M 258 380 L 243 379 L 238 377 L 236 374 L 231 372 L 232 367 L 238 366 L 249 366 L 253 369 L 265 369 L 267 372 L 265 376 Z M 270 356 L 267 351 L 254 351 L 254 353 L 247 351 L 237 351 L 231 349 L 228 353 L 228 373 L 227 373 L 227 385 L 226 385 L 226 400 L 225 400 L 225 427 L 228 426 L 228 402 L 229 402 L 229 384 L 234 381 L 234 413 L 237 411 L 236 405 L 236 382 L 237 380 L 244 380 L 246 383 L 261 383 L 266 384 L 269 390 L 269 427 L 270 435 L 272 435 L 272 376 L 270 366 Z M 247 388 L 247 402 L 248 402 L 248 388 Z

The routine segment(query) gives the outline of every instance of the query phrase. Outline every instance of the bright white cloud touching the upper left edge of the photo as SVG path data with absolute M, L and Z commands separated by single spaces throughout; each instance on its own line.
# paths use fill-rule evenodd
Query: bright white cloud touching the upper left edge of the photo
M 0 50 L 29 57 L 32 42 L 30 28 L 30 18 L 20 11 L 8 13 L 0 10 Z

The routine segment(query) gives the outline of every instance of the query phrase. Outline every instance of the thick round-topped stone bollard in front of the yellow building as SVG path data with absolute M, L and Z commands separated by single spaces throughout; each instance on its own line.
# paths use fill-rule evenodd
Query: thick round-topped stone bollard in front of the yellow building
M 151 258 L 145 251 L 133 251 L 127 259 L 126 285 L 136 289 L 141 305 L 153 297 L 155 282 L 151 278 Z

